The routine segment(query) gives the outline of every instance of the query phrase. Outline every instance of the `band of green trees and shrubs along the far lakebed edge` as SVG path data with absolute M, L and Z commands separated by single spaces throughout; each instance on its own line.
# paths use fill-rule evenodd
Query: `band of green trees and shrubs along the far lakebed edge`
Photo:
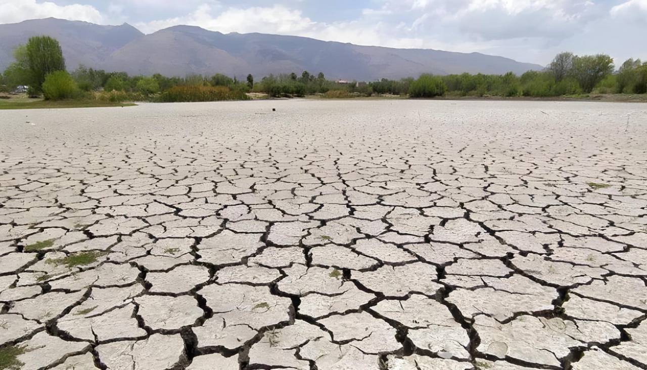
M 615 70 L 606 54 L 576 56 L 562 52 L 543 71 L 528 71 L 521 76 L 461 75 L 382 80 L 375 82 L 340 82 L 303 71 L 269 75 L 255 82 L 254 76 L 238 80 L 220 73 L 212 76 L 186 75 L 168 77 L 130 76 L 125 72 L 78 67 L 65 70 L 65 59 L 58 41 L 49 36 L 34 36 L 14 51 L 16 61 L 0 75 L 0 86 L 11 89 L 29 86 L 30 95 L 43 94 L 48 99 L 78 98 L 89 95 L 110 100 L 188 101 L 199 99 L 247 98 L 247 93 L 265 93 L 272 97 L 324 97 L 371 95 L 558 97 L 583 93 L 647 93 L 647 63 L 629 59 Z M 99 93 L 97 93 L 99 92 Z M 98 95 L 97 95 L 98 94 Z M 175 100 L 174 100 L 175 99 Z M 190 99 L 190 100 L 189 100 Z

